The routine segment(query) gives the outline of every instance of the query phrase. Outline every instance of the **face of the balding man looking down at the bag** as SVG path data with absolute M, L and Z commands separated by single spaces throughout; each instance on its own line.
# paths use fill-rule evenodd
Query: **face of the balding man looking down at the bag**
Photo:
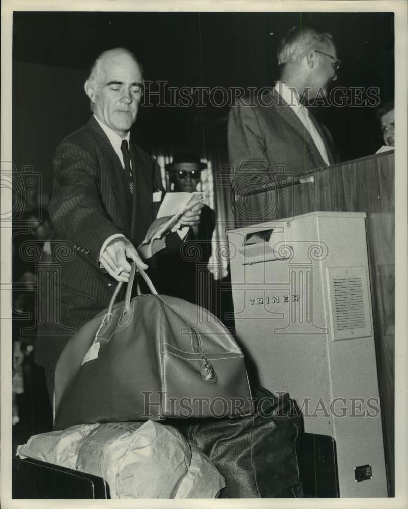
M 106 55 L 95 88 L 86 91 L 94 114 L 121 138 L 136 120 L 142 95 L 142 71 L 127 53 Z

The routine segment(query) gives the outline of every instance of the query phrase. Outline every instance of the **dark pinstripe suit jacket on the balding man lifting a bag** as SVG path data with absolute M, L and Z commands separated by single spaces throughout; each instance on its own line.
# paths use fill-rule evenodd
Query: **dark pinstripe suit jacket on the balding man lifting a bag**
M 39 326 L 35 361 L 47 369 L 54 370 L 72 334 L 109 304 L 116 281 L 99 268 L 103 242 L 123 233 L 137 247 L 156 217 L 160 203 L 153 202 L 153 192 L 164 196 L 160 168 L 132 142 L 130 156 L 133 198 L 122 164 L 94 117 L 54 153 L 49 214 L 72 256 L 60 262 L 60 284 L 53 288 L 58 323 Z

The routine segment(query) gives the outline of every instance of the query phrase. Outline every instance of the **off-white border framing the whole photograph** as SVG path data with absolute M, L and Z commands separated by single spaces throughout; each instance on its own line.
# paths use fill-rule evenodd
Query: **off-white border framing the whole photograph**
M 141 2 L 124 0 L 3 0 L 1 16 L 1 171 L 10 171 L 12 161 L 12 13 L 13 11 L 272 11 L 272 12 L 391 12 L 395 13 L 395 498 L 383 499 L 254 499 L 254 500 L 11 500 L 11 323 L 0 320 L 1 336 L 1 462 L 0 497 L 9 507 L 406 507 L 407 499 L 407 4 L 404 0 L 379 1 L 207 1 Z M 11 210 L 11 190 L 1 188 L 1 212 Z M 11 285 L 10 228 L 2 227 L 0 278 L 2 289 Z M 0 292 L 0 317 L 10 316 L 11 298 Z

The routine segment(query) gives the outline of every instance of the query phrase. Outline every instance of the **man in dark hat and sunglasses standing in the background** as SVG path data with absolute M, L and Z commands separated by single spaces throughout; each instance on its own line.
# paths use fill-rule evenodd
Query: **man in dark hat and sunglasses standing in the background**
M 173 192 L 194 192 L 206 164 L 197 154 L 176 154 L 166 165 Z M 210 298 L 213 277 L 207 270 L 211 256 L 211 237 L 214 231 L 213 211 L 204 206 L 199 224 L 189 228 L 183 242 L 177 236 L 168 236 L 166 247 L 146 260 L 158 291 L 173 295 L 207 309 L 214 303 Z M 213 309 L 210 309 L 213 310 Z

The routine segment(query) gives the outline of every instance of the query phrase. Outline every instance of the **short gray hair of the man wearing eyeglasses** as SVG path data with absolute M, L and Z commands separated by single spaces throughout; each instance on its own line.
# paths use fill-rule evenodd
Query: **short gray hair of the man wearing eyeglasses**
M 324 50 L 330 43 L 334 44 L 333 36 L 328 32 L 310 26 L 294 26 L 282 37 L 279 43 L 278 64 L 300 62 L 309 51 L 313 49 Z

